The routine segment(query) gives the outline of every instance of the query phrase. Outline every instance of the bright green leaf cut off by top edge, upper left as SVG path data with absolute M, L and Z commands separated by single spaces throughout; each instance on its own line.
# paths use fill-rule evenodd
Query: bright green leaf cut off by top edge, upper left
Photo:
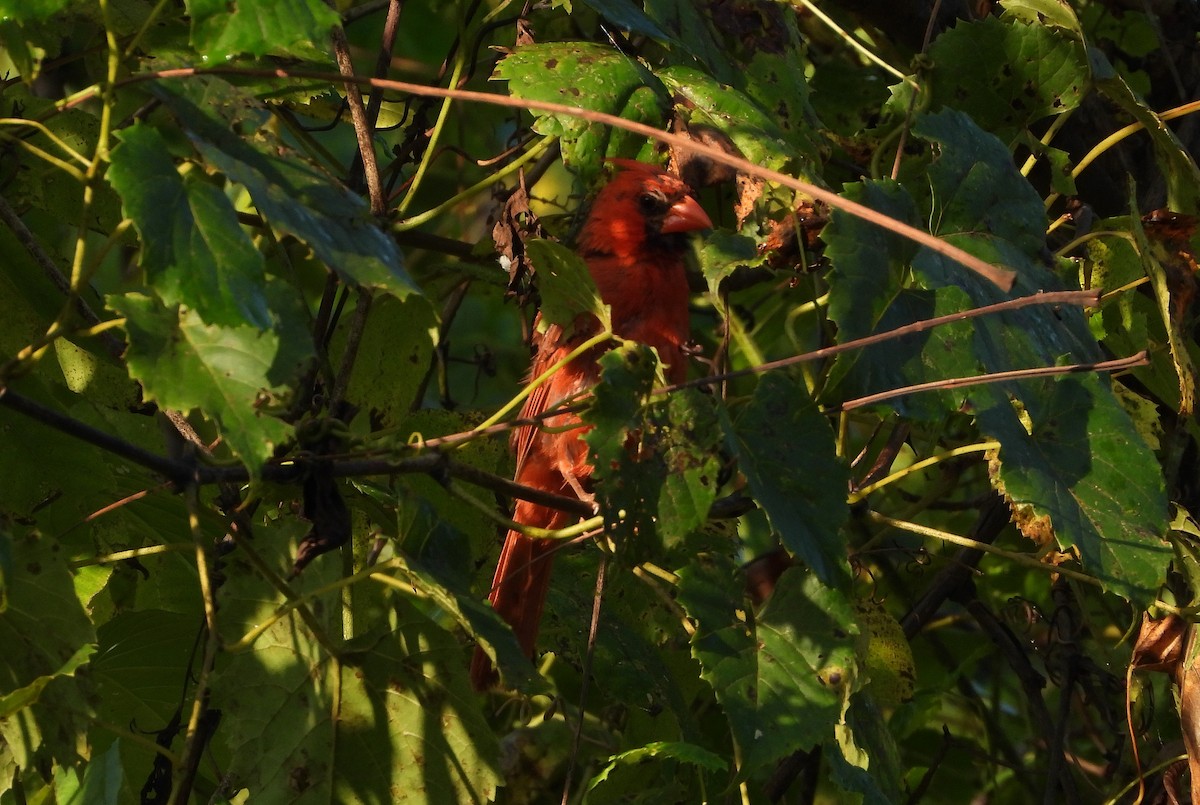
M 320 58 L 330 31 L 341 25 L 322 0 L 187 0 L 192 44 L 206 58 L 224 61 L 246 53 Z

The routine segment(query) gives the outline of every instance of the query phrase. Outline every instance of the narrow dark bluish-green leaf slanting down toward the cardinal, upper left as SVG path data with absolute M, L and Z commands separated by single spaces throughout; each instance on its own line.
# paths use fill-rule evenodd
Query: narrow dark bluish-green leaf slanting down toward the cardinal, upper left
M 248 103 L 247 98 L 221 82 L 186 84 L 182 90 L 190 95 L 154 88 L 197 150 L 246 187 L 271 226 L 307 244 L 317 259 L 352 286 L 383 289 L 401 299 L 419 293 L 395 241 L 379 228 L 361 198 L 295 155 L 260 150 L 254 140 L 230 131 L 230 125 L 254 122 L 256 115 L 245 114 L 238 104 Z M 230 106 L 234 118 L 229 121 L 210 110 Z

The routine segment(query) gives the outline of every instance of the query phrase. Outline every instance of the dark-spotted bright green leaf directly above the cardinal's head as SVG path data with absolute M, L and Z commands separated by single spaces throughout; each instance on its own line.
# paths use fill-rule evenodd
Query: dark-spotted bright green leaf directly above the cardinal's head
M 553 80 L 546 80 L 553 74 Z M 636 60 L 601 44 L 528 44 L 505 56 L 493 78 L 509 83 L 514 97 L 606 112 L 649 125 L 662 122 L 666 91 Z M 580 118 L 533 112 L 534 131 L 563 140 L 563 162 L 582 181 L 600 172 L 605 157 L 629 155 L 643 138 L 589 124 Z

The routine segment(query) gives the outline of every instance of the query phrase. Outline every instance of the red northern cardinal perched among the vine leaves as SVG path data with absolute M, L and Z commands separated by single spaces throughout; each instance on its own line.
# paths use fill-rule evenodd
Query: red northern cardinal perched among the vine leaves
M 680 383 L 688 366 L 688 278 L 684 269 L 686 233 L 713 226 L 680 179 L 662 169 L 632 160 L 611 160 L 619 173 L 596 194 L 578 238 L 580 256 L 600 292 L 612 307 L 612 330 L 622 338 L 654 347 L 665 364 L 666 378 Z M 581 317 L 582 318 L 582 317 Z M 575 347 L 599 332 L 576 322 L 570 335 L 551 325 L 534 336 L 536 354 L 530 378 L 563 360 Z M 535 326 L 535 332 L 538 328 Z M 592 350 L 563 366 L 539 386 L 521 409 L 522 417 L 536 416 L 562 401 L 596 384 L 596 360 Z M 556 494 L 589 499 L 592 465 L 583 428 L 574 414 L 547 417 L 544 428 L 523 426 L 512 434 L 516 481 Z M 518 500 L 512 519 L 524 525 L 559 529 L 576 519 L 566 512 Z M 521 648 L 532 659 L 542 607 L 550 587 L 556 540 L 538 540 L 509 531 L 492 581 L 492 607 L 512 625 Z M 487 655 L 475 649 L 470 667 L 476 690 L 493 679 Z

